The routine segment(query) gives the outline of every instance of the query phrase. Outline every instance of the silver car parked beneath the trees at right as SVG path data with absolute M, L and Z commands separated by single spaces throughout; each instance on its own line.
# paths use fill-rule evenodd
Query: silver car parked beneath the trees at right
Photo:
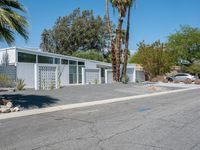
M 187 79 L 194 81 L 196 78 L 195 76 L 188 73 L 178 73 L 175 76 L 167 77 L 166 79 L 168 81 L 185 81 Z

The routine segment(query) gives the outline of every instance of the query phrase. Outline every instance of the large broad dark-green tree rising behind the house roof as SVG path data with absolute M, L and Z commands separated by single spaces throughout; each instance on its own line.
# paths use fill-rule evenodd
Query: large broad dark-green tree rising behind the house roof
M 93 11 L 75 9 L 59 17 L 52 29 L 45 29 L 41 37 L 45 51 L 72 55 L 76 51 L 103 51 L 109 41 L 104 18 L 95 17 Z

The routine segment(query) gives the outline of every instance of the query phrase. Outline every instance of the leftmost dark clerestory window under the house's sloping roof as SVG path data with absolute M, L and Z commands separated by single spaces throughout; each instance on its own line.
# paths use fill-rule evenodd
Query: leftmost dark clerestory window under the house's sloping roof
M 18 62 L 36 63 L 36 55 L 18 52 Z

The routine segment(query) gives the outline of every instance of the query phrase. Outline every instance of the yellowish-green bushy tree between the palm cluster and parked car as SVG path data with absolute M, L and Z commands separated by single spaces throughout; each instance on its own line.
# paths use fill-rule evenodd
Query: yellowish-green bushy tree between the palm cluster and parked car
M 153 44 L 138 44 L 138 52 L 135 58 L 144 68 L 150 78 L 163 75 L 171 70 L 172 57 L 166 50 L 165 44 L 156 41 Z

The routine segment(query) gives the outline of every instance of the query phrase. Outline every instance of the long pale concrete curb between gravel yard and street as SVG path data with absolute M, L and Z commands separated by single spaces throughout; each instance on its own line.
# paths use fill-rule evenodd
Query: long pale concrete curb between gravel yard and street
M 48 107 L 48 108 L 25 110 L 21 112 L 13 112 L 9 114 L 0 114 L 0 120 L 16 118 L 16 117 L 31 116 L 31 115 L 37 115 L 37 114 L 43 114 L 43 113 L 49 113 L 49 112 L 56 112 L 56 111 L 62 111 L 62 110 L 69 110 L 69 109 L 75 109 L 75 108 L 103 105 L 103 104 L 109 104 L 109 103 L 116 103 L 116 102 L 134 100 L 138 98 L 146 98 L 146 97 L 152 97 L 152 96 L 172 94 L 172 93 L 177 93 L 177 92 L 190 91 L 194 89 L 200 89 L 200 87 L 179 89 L 179 90 L 172 90 L 172 91 L 165 91 L 165 92 L 151 93 L 151 94 L 144 94 L 144 95 L 128 96 L 128 97 L 121 97 L 121 98 L 113 98 L 113 99 L 106 99 L 106 100 L 98 100 L 98 101 L 92 101 L 92 102 L 67 104 L 67 105 L 60 105 L 60 106 L 54 106 L 54 107 Z

